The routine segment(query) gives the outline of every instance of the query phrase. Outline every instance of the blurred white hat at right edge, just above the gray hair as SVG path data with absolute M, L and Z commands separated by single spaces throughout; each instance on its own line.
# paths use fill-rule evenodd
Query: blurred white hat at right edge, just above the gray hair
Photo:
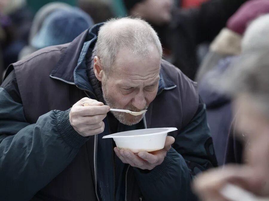
M 269 47 L 269 14 L 256 18 L 248 26 L 242 40 L 242 52 Z

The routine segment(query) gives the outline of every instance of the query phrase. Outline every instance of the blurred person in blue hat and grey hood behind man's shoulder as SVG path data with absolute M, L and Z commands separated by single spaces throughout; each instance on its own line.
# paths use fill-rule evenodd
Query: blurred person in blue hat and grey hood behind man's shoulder
M 93 24 L 91 17 L 79 8 L 63 3 L 46 5 L 36 14 L 29 38 L 30 45 L 22 49 L 19 59 L 38 49 L 69 43 Z

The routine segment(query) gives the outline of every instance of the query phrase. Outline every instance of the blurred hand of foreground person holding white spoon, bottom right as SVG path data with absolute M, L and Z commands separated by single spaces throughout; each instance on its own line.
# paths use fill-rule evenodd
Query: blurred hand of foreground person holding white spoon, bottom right
M 265 185 L 262 174 L 255 169 L 249 166 L 228 165 L 198 175 L 193 182 L 193 190 L 203 201 L 222 201 L 226 199 L 220 191 L 228 183 L 254 194 L 259 194 Z

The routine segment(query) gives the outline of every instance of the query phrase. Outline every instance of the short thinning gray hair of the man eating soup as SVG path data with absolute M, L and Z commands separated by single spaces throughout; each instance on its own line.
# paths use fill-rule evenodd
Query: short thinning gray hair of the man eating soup
M 150 54 L 151 44 L 157 47 L 161 60 L 161 42 L 155 30 L 146 21 L 130 17 L 113 18 L 100 27 L 96 51 L 104 71 L 109 74 L 121 48 L 129 49 L 134 56 L 147 56 Z

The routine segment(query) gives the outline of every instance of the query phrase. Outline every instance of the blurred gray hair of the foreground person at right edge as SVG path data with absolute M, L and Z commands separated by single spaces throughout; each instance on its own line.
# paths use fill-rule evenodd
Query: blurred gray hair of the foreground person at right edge
M 242 54 L 230 67 L 222 81 L 224 90 L 232 97 L 249 95 L 269 118 L 269 50 Z

